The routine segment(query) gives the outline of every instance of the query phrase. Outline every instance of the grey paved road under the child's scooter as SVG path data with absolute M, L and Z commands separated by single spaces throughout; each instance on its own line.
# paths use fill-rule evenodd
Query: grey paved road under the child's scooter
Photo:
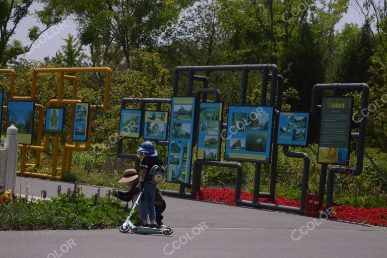
M 57 182 L 29 179 L 29 184 L 30 192 L 44 186 L 48 195 L 51 188 L 56 194 Z M 60 184 L 62 189 L 66 185 Z M 86 195 L 95 191 L 85 187 Z M 120 234 L 117 229 L 8 231 L 0 232 L 0 257 L 387 256 L 387 228 L 168 197 L 166 202 L 171 236 Z

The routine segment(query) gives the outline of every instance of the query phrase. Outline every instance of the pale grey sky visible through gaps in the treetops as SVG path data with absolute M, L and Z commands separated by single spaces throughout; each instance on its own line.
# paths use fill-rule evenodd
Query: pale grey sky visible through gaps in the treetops
M 32 9 L 39 9 L 39 6 L 34 4 Z M 358 25 L 363 24 L 363 19 L 356 11 L 356 6 L 354 4 L 350 5 L 348 13 L 345 14 L 343 19 L 341 19 L 340 22 L 336 25 L 336 29 L 340 30 L 345 23 L 351 22 L 357 23 Z M 41 27 L 41 25 L 36 22 L 36 19 L 33 16 L 26 17 L 22 20 L 16 29 L 16 33 L 13 36 L 13 39 L 18 39 L 23 44 L 31 44 L 27 38 L 27 33 L 28 28 L 31 28 L 34 25 Z M 41 29 L 43 28 L 41 27 Z M 77 26 L 74 21 L 70 19 L 64 21 L 64 23 L 59 26 L 48 29 L 44 34 L 42 34 L 31 48 L 31 51 L 26 54 L 24 58 L 42 60 L 45 56 L 54 56 L 56 51 L 59 50 L 60 46 L 64 43 L 62 38 L 67 38 L 69 33 L 77 35 Z M 88 49 L 86 49 L 85 52 L 89 54 Z

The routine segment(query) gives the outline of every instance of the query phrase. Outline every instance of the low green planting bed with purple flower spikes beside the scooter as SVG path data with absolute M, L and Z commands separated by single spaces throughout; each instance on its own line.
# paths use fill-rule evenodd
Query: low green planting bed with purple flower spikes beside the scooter
M 117 228 L 129 212 L 111 195 L 86 198 L 78 188 L 50 200 L 16 198 L 0 203 L 0 230 Z M 141 224 L 138 213 L 132 222 Z

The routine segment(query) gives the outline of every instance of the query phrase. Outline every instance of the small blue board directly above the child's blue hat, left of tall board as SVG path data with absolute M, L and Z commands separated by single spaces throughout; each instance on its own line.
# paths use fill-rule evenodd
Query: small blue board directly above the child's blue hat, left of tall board
M 145 111 L 143 138 L 147 140 L 167 140 L 168 117 L 167 111 Z

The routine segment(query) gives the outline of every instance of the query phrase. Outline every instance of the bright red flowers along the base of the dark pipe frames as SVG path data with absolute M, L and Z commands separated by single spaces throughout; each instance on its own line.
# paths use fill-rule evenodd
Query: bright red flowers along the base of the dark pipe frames
M 197 192 L 196 199 L 236 205 L 234 197 L 235 197 L 235 190 L 232 190 L 232 189 L 203 188 Z M 240 199 L 246 200 L 246 201 L 252 201 L 252 193 L 242 191 L 240 193 Z M 288 200 L 283 196 L 276 197 L 275 202 L 269 202 L 269 199 L 267 198 L 260 198 L 260 202 L 273 203 L 273 204 L 292 206 L 292 207 L 300 207 L 300 201 Z M 333 216 L 332 216 L 333 219 L 387 227 L 387 209 L 386 208 L 364 209 L 364 208 L 350 207 L 350 206 L 334 206 L 333 210 L 334 210 Z

